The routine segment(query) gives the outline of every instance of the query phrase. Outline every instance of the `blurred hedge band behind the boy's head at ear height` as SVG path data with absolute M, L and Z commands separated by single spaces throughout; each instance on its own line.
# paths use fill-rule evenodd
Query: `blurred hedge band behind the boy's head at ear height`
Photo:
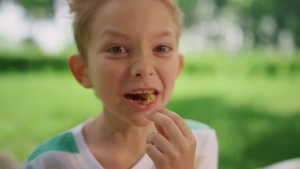
M 0 73 L 5 72 L 34 72 L 41 70 L 68 71 L 68 57 L 45 56 L 40 52 L 12 53 L 0 52 Z M 202 56 L 199 58 L 199 55 Z M 41 57 L 43 56 L 43 57 Z M 213 75 L 225 71 L 235 75 L 243 71 L 247 76 L 288 76 L 300 75 L 300 53 L 287 58 L 284 53 L 252 50 L 240 53 L 190 53 L 187 54 L 185 72 L 188 74 Z M 209 58 L 209 59 L 208 59 Z M 239 71 L 236 71 L 239 70 Z

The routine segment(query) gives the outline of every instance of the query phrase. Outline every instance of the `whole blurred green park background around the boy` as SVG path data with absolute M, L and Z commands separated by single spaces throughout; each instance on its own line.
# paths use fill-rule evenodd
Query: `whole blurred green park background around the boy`
M 177 2 L 185 68 L 167 108 L 216 129 L 219 168 L 300 157 L 300 1 Z M 0 20 L 0 151 L 24 162 L 102 105 L 68 70 L 64 1 L 0 0 Z

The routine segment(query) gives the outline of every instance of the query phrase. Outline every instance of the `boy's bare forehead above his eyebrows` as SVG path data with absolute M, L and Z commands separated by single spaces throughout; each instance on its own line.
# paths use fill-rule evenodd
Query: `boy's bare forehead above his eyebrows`
M 171 11 L 159 0 L 113 0 L 96 12 L 93 37 L 176 36 Z

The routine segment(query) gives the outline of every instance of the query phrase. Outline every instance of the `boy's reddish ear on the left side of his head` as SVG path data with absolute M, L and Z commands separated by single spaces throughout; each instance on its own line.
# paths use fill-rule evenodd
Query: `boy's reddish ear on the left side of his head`
M 86 63 L 81 55 L 73 54 L 70 57 L 68 64 L 74 77 L 84 88 L 93 88 L 91 79 L 89 79 L 87 73 Z

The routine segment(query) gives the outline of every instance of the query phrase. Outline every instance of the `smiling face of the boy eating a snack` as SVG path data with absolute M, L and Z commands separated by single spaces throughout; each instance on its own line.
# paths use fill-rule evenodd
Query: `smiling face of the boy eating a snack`
M 166 106 L 183 65 L 170 10 L 159 0 L 109 1 L 91 33 L 86 74 L 104 113 L 136 126 L 149 124 L 144 112 Z M 146 89 L 155 90 L 154 102 L 128 95 Z

